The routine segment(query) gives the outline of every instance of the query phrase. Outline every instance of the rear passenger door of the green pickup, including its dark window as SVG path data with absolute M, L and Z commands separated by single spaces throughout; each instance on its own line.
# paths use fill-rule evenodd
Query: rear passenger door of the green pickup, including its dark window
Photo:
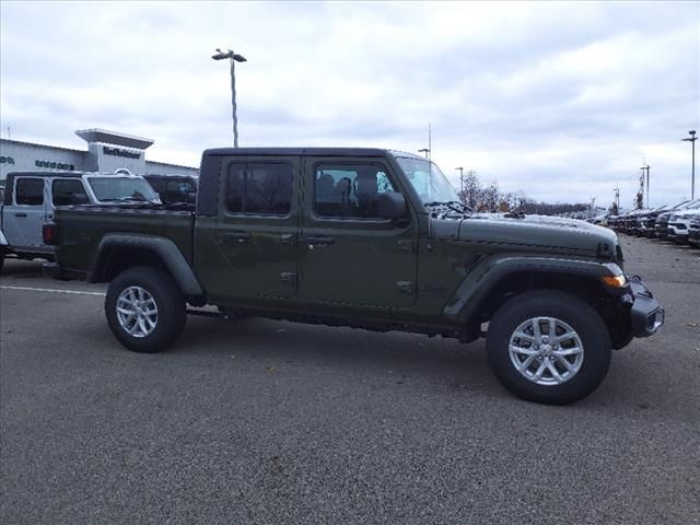
M 219 177 L 218 246 L 202 278 L 221 303 L 296 293 L 299 158 L 231 158 Z M 203 223 L 202 223 L 203 224 Z

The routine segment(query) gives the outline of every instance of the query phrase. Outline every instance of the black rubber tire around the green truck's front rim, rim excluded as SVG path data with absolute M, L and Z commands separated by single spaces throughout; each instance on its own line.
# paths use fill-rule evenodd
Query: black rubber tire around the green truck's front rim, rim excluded
M 521 374 L 511 360 L 511 336 L 521 324 L 535 317 L 563 320 L 581 339 L 583 361 L 578 373 L 564 383 L 537 384 Z M 569 405 L 593 393 L 610 366 L 610 347 L 607 327 L 596 311 L 579 298 L 555 290 L 513 298 L 495 313 L 487 335 L 488 359 L 501 384 L 522 399 L 548 405 Z M 537 362 L 533 361 L 533 365 L 537 366 Z

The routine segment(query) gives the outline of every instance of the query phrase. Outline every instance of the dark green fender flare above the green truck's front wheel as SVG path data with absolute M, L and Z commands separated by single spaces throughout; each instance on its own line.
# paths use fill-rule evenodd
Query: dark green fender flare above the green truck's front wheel
M 622 275 L 614 262 L 495 255 L 481 260 L 465 277 L 443 308 L 443 316 L 454 323 L 466 324 L 502 279 L 521 271 L 568 273 L 598 281 L 606 276 Z

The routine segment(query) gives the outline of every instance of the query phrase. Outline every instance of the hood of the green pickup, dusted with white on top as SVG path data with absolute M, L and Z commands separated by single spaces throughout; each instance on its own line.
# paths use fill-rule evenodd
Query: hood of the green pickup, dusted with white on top
M 432 235 L 441 238 L 588 257 L 611 254 L 612 260 L 617 260 L 619 254 L 618 238 L 612 231 L 574 219 L 474 213 L 458 220 L 433 219 L 432 224 Z

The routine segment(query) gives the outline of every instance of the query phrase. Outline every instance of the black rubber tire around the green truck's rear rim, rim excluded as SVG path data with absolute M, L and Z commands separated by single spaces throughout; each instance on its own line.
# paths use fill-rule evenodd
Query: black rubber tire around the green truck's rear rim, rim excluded
M 142 337 L 135 337 L 122 328 L 117 316 L 117 300 L 130 287 L 145 290 L 158 307 L 155 327 Z M 135 267 L 119 273 L 109 283 L 105 298 L 105 315 L 117 340 L 135 352 L 160 352 L 173 345 L 187 322 L 185 298 L 173 278 L 163 270 Z

